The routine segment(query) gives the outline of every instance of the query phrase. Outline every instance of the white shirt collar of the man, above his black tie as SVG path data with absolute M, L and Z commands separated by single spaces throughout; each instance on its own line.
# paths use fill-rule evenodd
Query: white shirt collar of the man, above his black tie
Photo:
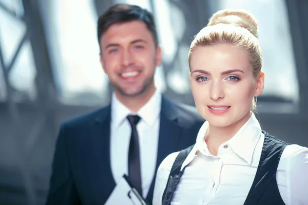
M 157 120 L 161 110 L 162 95 L 158 90 L 155 91 L 154 95 L 150 100 L 143 105 L 137 113 L 129 110 L 124 104 L 122 104 L 115 93 L 112 93 L 111 97 L 111 120 L 115 127 L 120 126 L 128 115 L 139 115 L 149 126 Z

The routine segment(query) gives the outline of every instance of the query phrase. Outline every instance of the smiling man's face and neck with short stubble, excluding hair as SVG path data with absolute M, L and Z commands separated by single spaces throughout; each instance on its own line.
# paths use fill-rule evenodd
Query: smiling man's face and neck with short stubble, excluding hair
M 113 24 L 100 38 L 103 69 L 115 96 L 131 111 L 138 111 L 156 91 L 153 76 L 162 52 L 153 38 L 156 34 L 141 20 Z

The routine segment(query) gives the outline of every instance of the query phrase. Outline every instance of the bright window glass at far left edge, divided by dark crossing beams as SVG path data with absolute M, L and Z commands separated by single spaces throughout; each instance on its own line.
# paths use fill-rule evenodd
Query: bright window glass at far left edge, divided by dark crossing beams
M 20 45 L 26 32 L 26 25 L 16 17 L 23 15 L 21 1 L 2 1 L 1 3 L 15 12 L 15 16 L 12 16 L 6 11 L 0 9 L 0 45 L 3 61 L 5 66 L 12 65 L 8 76 L 10 85 L 16 90 L 21 91 L 18 95 L 14 95 L 14 100 L 24 100 L 24 98 L 35 100 L 36 91 L 34 78 L 36 70 L 29 41 L 23 43 L 15 61 L 12 62 L 16 49 L 18 45 Z M 0 68 L 0 100 L 4 100 L 7 95 L 6 85 L 3 68 Z M 24 96 L 19 95 L 22 93 Z

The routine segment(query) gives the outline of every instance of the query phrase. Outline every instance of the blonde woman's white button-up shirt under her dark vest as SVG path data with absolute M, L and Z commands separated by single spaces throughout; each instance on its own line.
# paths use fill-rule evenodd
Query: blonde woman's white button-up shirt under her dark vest
M 187 165 L 171 204 L 239 205 L 244 203 L 251 189 L 264 141 L 255 115 L 252 114 L 232 139 L 219 146 L 217 156 L 210 154 L 205 143 L 207 128 L 206 121 L 181 167 L 183 170 Z M 178 154 L 170 154 L 159 166 L 153 205 L 162 204 L 171 166 Z M 276 179 L 285 204 L 308 204 L 308 148 L 287 145 L 278 164 Z

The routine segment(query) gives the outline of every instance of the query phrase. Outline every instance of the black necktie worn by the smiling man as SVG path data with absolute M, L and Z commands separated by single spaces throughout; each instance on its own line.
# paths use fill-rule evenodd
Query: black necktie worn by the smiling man
M 128 177 L 142 195 L 139 138 L 136 129 L 140 117 L 138 115 L 129 115 L 127 116 L 127 119 L 131 125 L 131 136 L 128 152 Z

